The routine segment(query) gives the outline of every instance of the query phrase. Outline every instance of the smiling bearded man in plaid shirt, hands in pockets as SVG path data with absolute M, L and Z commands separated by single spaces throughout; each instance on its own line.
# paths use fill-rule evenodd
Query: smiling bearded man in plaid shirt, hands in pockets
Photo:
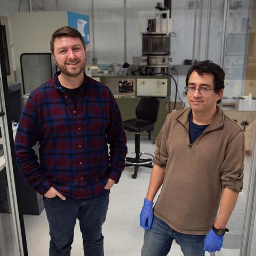
M 84 255 L 101 256 L 110 188 L 127 153 L 122 119 L 108 87 L 83 72 L 82 35 L 62 27 L 50 44 L 59 71 L 29 95 L 15 138 L 17 163 L 27 184 L 44 196 L 49 254 L 70 255 L 78 219 Z M 37 141 L 40 163 L 32 149 Z

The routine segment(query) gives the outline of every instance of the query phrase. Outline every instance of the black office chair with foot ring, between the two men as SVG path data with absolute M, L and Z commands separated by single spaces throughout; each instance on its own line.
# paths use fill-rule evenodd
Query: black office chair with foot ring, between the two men
M 128 154 L 135 154 L 135 157 L 126 157 L 125 166 L 134 166 L 133 179 L 137 178 L 139 166 L 152 168 L 154 156 L 148 153 L 140 152 L 140 133 L 147 131 L 148 139 L 151 139 L 151 131 L 154 130 L 154 124 L 157 120 L 159 110 L 159 100 L 155 98 L 142 98 L 135 113 L 137 118 L 129 119 L 123 122 L 124 130 L 135 132 L 135 152 Z M 149 155 L 151 158 L 143 159 L 141 155 Z

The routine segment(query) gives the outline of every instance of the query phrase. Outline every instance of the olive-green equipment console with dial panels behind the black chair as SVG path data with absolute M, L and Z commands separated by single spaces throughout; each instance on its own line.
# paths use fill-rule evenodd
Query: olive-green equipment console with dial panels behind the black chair
M 95 76 L 98 81 L 109 87 L 114 94 L 122 119 L 135 117 L 135 108 L 143 97 L 154 97 L 160 101 L 155 129 L 151 133 L 156 137 L 166 116 L 170 113 L 171 77 L 167 76 Z M 142 133 L 147 136 L 147 133 Z

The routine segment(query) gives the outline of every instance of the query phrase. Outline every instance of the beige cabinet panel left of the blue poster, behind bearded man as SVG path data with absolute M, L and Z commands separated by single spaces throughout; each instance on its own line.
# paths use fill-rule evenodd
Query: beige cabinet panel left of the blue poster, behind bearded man
M 51 36 L 56 29 L 67 25 L 67 12 L 15 12 L 10 14 L 10 19 L 17 81 L 21 82 L 20 56 L 23 53 L 51 53 Z

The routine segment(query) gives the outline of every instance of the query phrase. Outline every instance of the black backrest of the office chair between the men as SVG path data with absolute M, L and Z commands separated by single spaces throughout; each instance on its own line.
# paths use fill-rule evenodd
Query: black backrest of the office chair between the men
M 136 117 L 156 122 L 159 110 L 159 100 L 156 98 L 142 98 L 136 107 Z

